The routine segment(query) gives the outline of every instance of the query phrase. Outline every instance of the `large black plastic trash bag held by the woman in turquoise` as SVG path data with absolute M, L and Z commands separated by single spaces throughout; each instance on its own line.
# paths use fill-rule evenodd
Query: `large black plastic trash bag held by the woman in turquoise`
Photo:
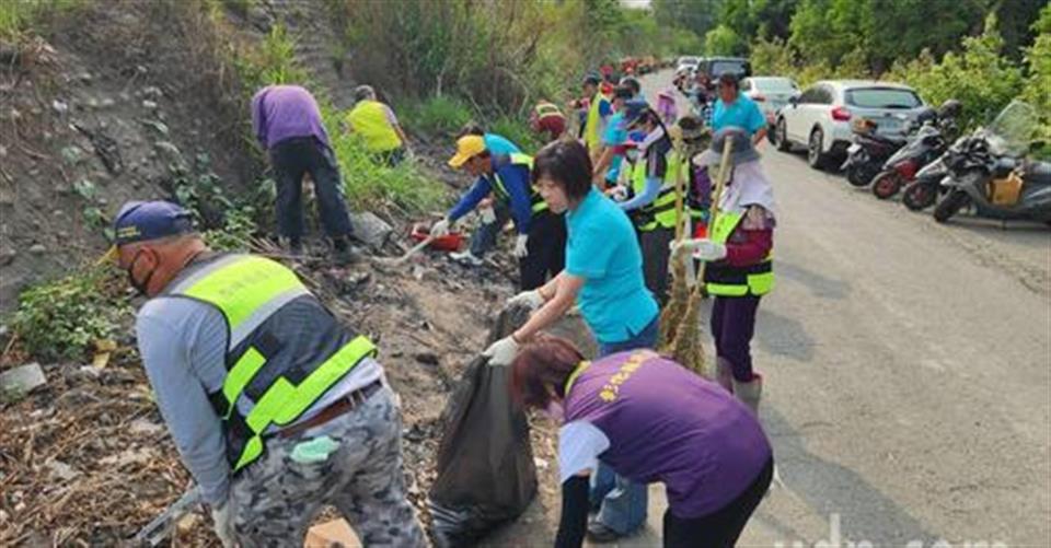
M 510 335 L 529 319 L 524 307 L 505 308 L 489 330 L 486 346 Z M 593 355 L 594 340 L 576 317 L 547 333 Z M 536 495 L 536 467 L 524 410 L 510 394 L 510 368 L 488 366 L 475 358 L 441 415 L 438 477 L 428 506 L 439 548 L 474 546 L 497 526 L 515 520 Z

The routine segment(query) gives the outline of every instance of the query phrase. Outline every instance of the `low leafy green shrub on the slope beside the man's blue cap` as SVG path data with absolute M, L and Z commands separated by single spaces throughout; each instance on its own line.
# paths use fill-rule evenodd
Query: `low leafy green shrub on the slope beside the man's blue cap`
M 86 359 L 95 341 L 115 338 L 131 317 L 116 269 L 89 268 L 25 290 L 11 327 L 39 360 Z

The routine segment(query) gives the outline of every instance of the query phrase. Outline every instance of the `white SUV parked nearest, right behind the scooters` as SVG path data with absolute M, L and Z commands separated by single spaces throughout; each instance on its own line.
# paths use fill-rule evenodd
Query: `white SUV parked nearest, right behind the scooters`
M 777 115 L 777 149 L 807 148 L 811 167 L 840 165 L 851 145 L 851 121 L 864 117 L 877 132 L 903 136 L 926 107 L 908 85 L 865 80 L 825 80 L 806 89 Z M 904 115 L 904 116 L 902 116 Z

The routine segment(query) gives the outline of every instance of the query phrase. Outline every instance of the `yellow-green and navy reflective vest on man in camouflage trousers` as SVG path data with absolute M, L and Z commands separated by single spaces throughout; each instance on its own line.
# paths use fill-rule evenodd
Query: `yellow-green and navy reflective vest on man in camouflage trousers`
M 234 473 L 263 455 L 267 429 L 294 423 L 376 354 L 372 342 L 347 333 L 294 272 L 264 257 L 203 261 L 163 294 L 210 304 L 227 322 L 227 376 L 209 400 L 222 419 Z

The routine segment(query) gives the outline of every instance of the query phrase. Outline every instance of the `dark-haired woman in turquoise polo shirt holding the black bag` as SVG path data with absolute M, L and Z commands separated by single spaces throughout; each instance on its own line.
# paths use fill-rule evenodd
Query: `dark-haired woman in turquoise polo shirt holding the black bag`
M 490 365 L 508 365 L 519 346 L 562 317 L 574 303 L 599 342 L 599 357 L 657 345 L 660 311 L 643 277 L 643 255 L 632 221 L 591 185 L 587 149 L 555 141 L 533 159 L 533 185 L 553 213 L 566 212 L 565 269 L 543 287 L 519 293 L 508 304 L 535 314 L 509 337 L 486 349 Z M 592 500 L 601 501 L 592 538 L 609 541 L 646 521 L 646 486 L 615 476 L 602 465 Z

